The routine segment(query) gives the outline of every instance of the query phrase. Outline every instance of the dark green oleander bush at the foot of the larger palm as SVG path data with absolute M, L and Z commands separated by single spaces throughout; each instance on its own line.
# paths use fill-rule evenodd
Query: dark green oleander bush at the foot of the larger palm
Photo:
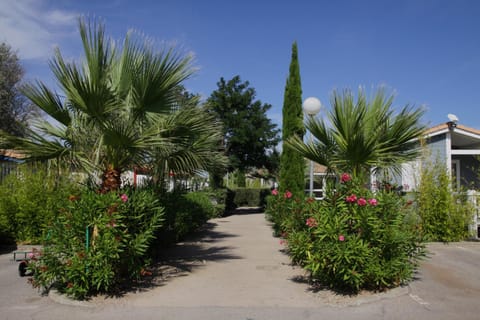
M 147 190 L 71 196 L 52 222 L 32 283 L 84 299 L 140 279 L 163 209 Z

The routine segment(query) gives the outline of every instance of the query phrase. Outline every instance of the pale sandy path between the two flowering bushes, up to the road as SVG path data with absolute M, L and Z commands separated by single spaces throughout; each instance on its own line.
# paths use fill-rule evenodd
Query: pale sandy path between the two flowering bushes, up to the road
M 217 219 L 198 241 L 166 253 L 188 276 L 180 271 L 164 285 L 123 300 L 135 306 L 317 306 L 305 284 L 292 281 L 304 272 L 290 266 L 281 249 L 263 214 Z

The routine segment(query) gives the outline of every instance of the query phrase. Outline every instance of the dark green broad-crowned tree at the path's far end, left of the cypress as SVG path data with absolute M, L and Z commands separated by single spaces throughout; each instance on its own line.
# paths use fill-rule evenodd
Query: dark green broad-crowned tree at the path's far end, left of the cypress
M 256 100 L 255 89 L 238 75 L 229 81 L 221 78 L 217 86 L 206 108 L 223 123 L 228 170 L 238 170 L 242 176 L 248 169 L 274 165 L 267 154 L 279 141 L 278 129 L 267 117 L 272 106 Z M 244 183 L 245 179 L 241 180 Z

